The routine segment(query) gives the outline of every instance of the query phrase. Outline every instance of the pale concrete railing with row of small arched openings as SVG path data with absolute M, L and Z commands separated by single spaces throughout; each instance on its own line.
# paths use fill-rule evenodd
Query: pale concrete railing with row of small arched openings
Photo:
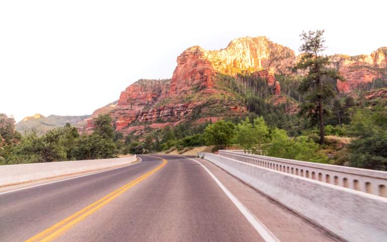
M 219 150 L 219 155 L 332 185 L 387 197 L 387 172 Z

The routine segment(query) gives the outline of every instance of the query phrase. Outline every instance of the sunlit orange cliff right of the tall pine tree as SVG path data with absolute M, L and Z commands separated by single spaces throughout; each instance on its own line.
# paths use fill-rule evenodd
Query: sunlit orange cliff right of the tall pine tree
M 369 55 L 331 56 L 332 66 L 336 67 L 345 81 L 338 81 L 340 92 L 350 92 L 359 85 L 370 83 L 377 78 L 387 76 L 387 47 L 381 47 Z

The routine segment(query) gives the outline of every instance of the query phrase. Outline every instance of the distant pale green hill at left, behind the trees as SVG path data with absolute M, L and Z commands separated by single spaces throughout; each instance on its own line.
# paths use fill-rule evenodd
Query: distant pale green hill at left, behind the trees
M 75 125 L 82 120 L 88 118 L 90 115 L 83 116 L 59 116 L 49 115 L 45 117 L 39 113 L 23 118 L 19 123 L 16 124 L 16 130 L 24 134 L 25 131 L 35 129 L 38 135 L 44 135 L 48 131 L 62 127 L 66 123 Z

